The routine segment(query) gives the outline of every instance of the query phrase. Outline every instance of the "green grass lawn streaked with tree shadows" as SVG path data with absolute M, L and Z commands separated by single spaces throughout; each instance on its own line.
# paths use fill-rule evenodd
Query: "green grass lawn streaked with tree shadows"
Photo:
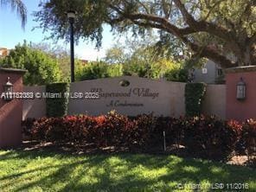
M 192 191 L 178 183 L 247 183 L 246 191 L 256 191 L 256 170 L 176 156 L 0 150 L 1 192 Z

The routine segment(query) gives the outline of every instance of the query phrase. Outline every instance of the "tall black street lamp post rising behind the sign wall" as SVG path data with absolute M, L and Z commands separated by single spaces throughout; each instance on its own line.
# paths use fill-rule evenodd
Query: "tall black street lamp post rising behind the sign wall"
M 71 64 L 71 82 L 74 82 L 74 18 L 75 12 L 69 10 L 67 18 L 70 24 L 70 64 Z

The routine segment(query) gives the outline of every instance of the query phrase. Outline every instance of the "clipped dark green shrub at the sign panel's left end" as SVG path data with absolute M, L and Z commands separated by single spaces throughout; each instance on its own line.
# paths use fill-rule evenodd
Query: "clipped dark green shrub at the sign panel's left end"
M 46 93 L 57 93 L 60 98 L 48 97 L 46 99 L 46 110 L 48 117 L 62 117 L 67 115 L 68 97 L 65 93 L 69 92 L 67 83 L 53 83 L 46 86 Z

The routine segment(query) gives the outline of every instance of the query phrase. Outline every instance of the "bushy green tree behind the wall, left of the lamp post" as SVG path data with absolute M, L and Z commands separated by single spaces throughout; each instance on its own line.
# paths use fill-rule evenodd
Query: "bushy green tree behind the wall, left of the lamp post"
M 61 80 L 57 61 L 41 50 L 31 48 L 26 42 L 10 50 L 10 54 L 0 61 L 0 66 L 27 69 L 23 82 L 29 86 Z

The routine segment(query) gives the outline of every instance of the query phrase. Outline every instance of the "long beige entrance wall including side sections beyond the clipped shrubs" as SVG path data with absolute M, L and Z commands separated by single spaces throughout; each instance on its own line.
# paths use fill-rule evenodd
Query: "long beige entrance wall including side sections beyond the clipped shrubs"
M 130 86 L 120 86 L 121 80 L 129 80 Z M 69 99 L 68 114 L 89 114 L 99 115 L 115 109 L 126 115 L 138 115 L 141 113 L 154 112 L 155 115 L 179 117 L 185 115 L 185 83 L 170 82 L 165 80 L 149 80 L 138 77 L 118 77 L 99 80 L 85 80 L 71 84 L 71 93 L 89 93 L 98 88 L 101 93 L 129 93 L 127 97 L 107 97 L 101 99 Z M 149 90 L 149 93 L 156 93 L 157 97 L 138 96 L 132 93 L 134 90 Z M 25 86 L 26 92 L 45 91 L 45 86 Z M 97 90 L 96 90 L 97 91 Z M 225 118 L 225 85 L 208 85 L 206 98 L 202 101 L 202 112 L 211 115 L 215 114 Z M 138 104 L 143 106 L 115 106 L 118 103 Z M 24 100 L 23 119 L 40 118 L 46 116 L 45 99 Z

